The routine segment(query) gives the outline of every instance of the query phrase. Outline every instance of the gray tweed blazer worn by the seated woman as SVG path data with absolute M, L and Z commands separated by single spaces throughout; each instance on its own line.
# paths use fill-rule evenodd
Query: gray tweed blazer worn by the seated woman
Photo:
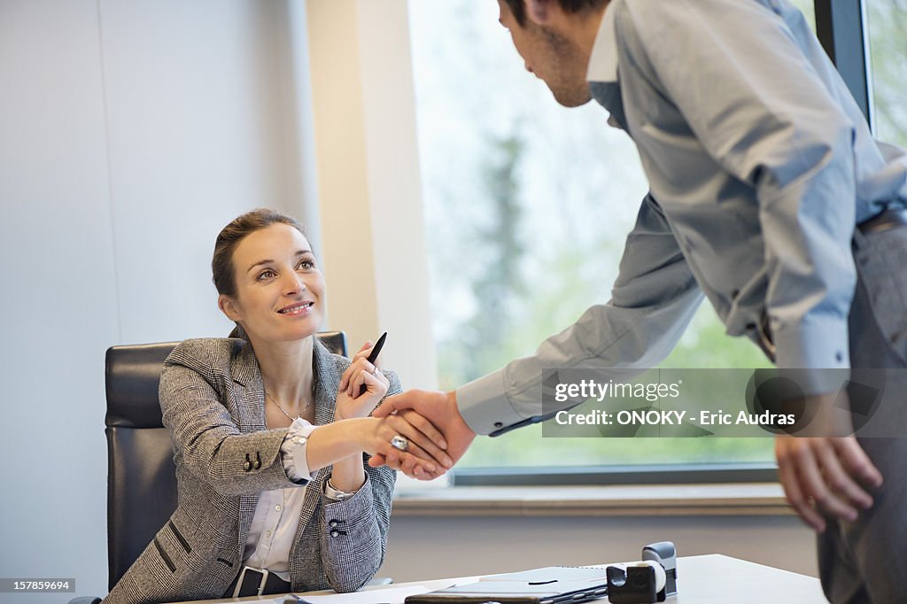
M 330 424 L 349 360 L 316 340 L 313 365 L 315 422 Z M 400 392 L 396 375 L 385 375 L 387 394 Z M 305 484 L 284 471 L 280 444 L 287 428 L 266 429 L 264 393 L 245 340 L 186 340 L 167 357 L 161 411 L 173 440 L 179 503 L 105 602 L 220 598 L 236 578 L 258 493 Z M 324 468 L 308 483 L 290 551 L 295 591 L 359 589 L 385 558 L 395 472 L 366 464 L 366 483 L 344 502 L 324 496 L 329 475 Z

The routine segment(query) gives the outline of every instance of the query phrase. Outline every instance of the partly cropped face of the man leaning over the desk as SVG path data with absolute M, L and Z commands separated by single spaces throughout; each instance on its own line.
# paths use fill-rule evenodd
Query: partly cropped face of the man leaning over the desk
M 526 71 L 548 84 L 554 99 L 564 107 L 579 107 L 589 102 L 591 95 L 586 82 L 589 57 L 584 57 L 579 45 L 571 41 L 570 32 L 557 32 L 528 17 L 523 26 L 517 23 L 504 0 L 498 0 L 498 6 L 499 21 L 511 33 L 513 45 L 526 63 Z

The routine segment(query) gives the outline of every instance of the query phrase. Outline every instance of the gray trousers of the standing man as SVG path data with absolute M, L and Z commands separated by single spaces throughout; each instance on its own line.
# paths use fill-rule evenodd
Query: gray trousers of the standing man
M 872 491 L 872 509 L 854 522 L 829 521 L 818 535 L 819 570 L 825 596 L 834 604 L 907 602 L 907 404 L 902 404 L 907 397 L 907 227 L 865 236 L 858 232 L 853 258 L 858 275 L 850 314 L 853 375 L 860 368 L 889 370 L 877 414 L 905 437 L 857 433 L 884 482 Z

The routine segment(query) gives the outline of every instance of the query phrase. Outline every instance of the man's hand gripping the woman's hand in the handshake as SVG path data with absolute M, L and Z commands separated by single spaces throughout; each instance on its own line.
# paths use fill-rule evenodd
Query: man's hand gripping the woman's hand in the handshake
M 429 390 L 407 390 L 405 393 L 390 396 L 373 412 L 375 417 L 386 417 L 390 414 L 419 414 L 434 424 L 446 440 L 446 452 L 453 459 L 453 463 L 463 457 L 463 453 L 473 443 L 475 433 L 463 421 L 463 415 L 456 405 L 456 394 L 453 392 L 435 392 Z M 412 420 L 411 420 L 412 421 Z M 414 468 L 406 467 L 408 460 L 401 461 L 395 455 L 375 455 L 368 464 L 377 467 L 389 465 L 395 470 L 402 470 L 407 476 L 431 480 L 444 473 L 444 468 L 438 468 L 430 476 L 414 475 Z

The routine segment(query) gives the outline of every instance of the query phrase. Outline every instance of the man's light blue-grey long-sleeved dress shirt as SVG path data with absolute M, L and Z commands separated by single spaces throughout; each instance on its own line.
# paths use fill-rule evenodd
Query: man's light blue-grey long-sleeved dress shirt
M 542 369 L 658 365 L 703 294 L 779 367 L 848 368 L 854 226 L 907 205 L 907 155 L 873 139 L 803 15 L 787 0 L 611 0 L 588 79 L 650 195 L 610 302 L 458 389 L 467 424 L 540 415 Z

